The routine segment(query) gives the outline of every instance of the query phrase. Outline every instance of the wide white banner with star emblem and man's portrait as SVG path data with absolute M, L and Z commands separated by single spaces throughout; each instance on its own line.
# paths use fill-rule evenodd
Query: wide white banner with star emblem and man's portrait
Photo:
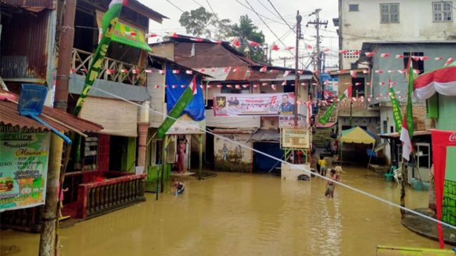
M 294 114 L 294 93 L 214 93 L 214 116 Z

